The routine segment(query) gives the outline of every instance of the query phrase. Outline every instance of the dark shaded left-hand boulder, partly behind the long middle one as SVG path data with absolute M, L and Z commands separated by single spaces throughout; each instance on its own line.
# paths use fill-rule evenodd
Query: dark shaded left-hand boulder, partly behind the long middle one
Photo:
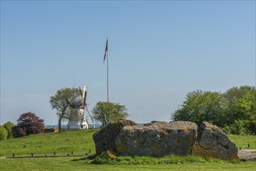
M 96 133 L 93 134 L 96 154 L 100 155 L 102 152 L 114 148 L 114 140 L 117 137 L 117 134 L 121 131 L 121 128 L 135 124 L 136 123 L 132 120 L 113 120 L 102 127 L 100 131 L 96 131 Z

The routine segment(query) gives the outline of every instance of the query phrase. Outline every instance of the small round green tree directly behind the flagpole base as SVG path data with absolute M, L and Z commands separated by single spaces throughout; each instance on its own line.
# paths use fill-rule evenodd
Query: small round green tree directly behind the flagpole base
M 106 125 L 110 120 L 126 119 L 128 113 L 126 108 L 119 103 L 98 102 L 93 107 L 93 119 Z

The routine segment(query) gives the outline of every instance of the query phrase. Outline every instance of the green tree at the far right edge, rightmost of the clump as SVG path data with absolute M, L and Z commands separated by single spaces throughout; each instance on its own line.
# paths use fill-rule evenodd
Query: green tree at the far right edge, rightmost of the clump
M 221 97 L 224 113 L 224 126 L 236 130 L 243 123 L 247 134 L 256 134 L 256 89 L 252 86 L 240 86 L 228 89 Z M 243 120 L 243 121 L 241 121 Z M 239 133 L 241 131 L 237 131 Z

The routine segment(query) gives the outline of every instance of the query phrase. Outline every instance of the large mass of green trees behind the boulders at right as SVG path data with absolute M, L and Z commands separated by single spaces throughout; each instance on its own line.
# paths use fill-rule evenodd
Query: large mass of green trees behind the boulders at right
M 226 92 L 189 92 L 173 120 L 209 121 L 232 134 L 256 134 L 256 89 L 240 86 Z

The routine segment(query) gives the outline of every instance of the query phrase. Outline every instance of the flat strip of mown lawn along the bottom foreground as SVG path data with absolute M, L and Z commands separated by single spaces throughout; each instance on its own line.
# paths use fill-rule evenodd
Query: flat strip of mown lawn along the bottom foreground
M 255 162 L 92 165 L 82 158 L 0 159 L 3 170 L 255 170 Z

